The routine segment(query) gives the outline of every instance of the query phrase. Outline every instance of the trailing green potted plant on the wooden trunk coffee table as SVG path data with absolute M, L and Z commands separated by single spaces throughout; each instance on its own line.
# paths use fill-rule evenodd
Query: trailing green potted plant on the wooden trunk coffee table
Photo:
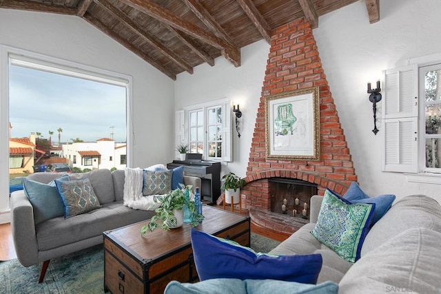
M 183 208 L 187 205 L 191 215 L 192 227 L 196 227 L 199 222 L 202 222 L 204 216 L 197 213 L 196 204 L 194 201 L 187 200 L 185 196 L 185 189 L 192 189 L 192 186 L 184 186 L 182 189 L 175 189 L 164 196 L 156 195 L 153 197 L 154 202 L 161 203 L 161 207 L 155 209 L 156 214 L 152 217 L 147 226 L 141 227 L 141 236 L 148 231 L 154 231 L 157 227 L 161 227 L 165 231 L 178 228 L 183 225 Z M 162 223 L 158 223 L 158 221 Z

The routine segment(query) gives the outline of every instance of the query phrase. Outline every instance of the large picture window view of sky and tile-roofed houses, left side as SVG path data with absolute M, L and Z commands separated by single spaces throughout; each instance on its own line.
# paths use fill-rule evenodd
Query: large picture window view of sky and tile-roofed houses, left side
M 125 167 L 127 81 L 76 70 L 10 58 L 10 178 Z

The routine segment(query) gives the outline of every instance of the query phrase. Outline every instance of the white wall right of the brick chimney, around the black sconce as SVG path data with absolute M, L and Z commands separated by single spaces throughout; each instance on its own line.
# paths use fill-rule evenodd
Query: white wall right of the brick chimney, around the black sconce
M 412 57 L 441 52 L 441 1 L 380 1 L 380 21 L 369 24 L 365 1 L 320 17 L 314 30 L 322 65 L 353 158 L 358 181 L 369 195 L 413 193 L 441 202 L 440 186 L 408 182 L 400 173 L 381 171 L 381 129 L 374 136 L 367 82 L 382 70 L 406 65 Z M 378 117 L 381 117 L 381 107 Z

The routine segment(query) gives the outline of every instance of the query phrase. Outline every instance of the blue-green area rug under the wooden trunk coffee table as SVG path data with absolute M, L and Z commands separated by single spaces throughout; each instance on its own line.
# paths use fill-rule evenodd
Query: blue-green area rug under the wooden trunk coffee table
M 251 234 L 251 247 L 267 253 L 280 242 Z M 43 283 L 41 264 L 24 267 L 9 260 L 0 263 L 0 293 L 104 293 L 103 244 L 50 261 Z

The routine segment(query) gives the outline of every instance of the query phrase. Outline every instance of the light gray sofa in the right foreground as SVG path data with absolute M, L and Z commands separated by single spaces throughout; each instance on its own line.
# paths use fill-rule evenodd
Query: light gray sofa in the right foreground
M 333 281 L 338 293 L 441 293 L 441 206 L 433 198 L 407 196 L 397 201 L 370 229 L 361 258 L 351 264 L 310 233 L 321 196 L 311 198 L 305 224 L 271 253 L 322 255 L 318 283 Z

